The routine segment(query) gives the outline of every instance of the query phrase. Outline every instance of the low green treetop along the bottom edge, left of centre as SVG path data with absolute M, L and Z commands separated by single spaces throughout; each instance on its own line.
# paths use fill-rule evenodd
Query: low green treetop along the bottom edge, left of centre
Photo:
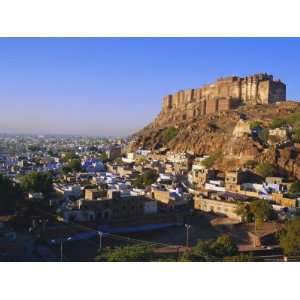
M 96 261 L 107 262 L 147 262 L 153 259 L 153 249 L 144 244 L 118 247 L 115 249 L 105 248 L 98 252 Z

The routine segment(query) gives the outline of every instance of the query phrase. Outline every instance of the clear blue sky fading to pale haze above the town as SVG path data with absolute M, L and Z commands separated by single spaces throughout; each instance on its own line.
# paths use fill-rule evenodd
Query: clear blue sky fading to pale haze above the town
M 127 135 L 165 94 L 268 72 L 300 99 L 300 38 L 0 38 L 0 132 Z

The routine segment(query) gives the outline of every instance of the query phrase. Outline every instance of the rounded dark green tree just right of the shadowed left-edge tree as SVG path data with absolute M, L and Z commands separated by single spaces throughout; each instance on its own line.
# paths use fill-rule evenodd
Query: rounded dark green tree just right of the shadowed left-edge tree
M 50 173 L 31 172 L 20 178 L 20 185 L 25 193 L 48 195 L 52 190 L 52 177 Z

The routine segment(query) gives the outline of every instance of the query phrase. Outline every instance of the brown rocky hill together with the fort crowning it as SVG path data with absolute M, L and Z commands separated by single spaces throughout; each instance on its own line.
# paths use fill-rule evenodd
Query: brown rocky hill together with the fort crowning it
M 257 74 L 222 78 L 200 89 L 166 96 L 160 114 L 134 135 L 131 147 L 167 147 L 194 155 L 221 153 L 216 162 L 221 170 L 244 166 L 249 160 L 267 161 L 300 178 L 300 146 L 292 141 L 266 146 L 250 130 L 253 121 L 268 127 L 274 118 L 299 110 L 298 102 L 285 101 L 285 92 L 285 85 L 271 75 Z

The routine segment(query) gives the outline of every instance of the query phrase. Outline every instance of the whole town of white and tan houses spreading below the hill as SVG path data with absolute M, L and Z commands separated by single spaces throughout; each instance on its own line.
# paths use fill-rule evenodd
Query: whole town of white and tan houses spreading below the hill
M 253 134 L 251 130 L 241 119 L 234 135 Z M 276 134 L 281 135 L 279 131 Z M 101 141 L 94 145 L 93 141 L 92 145 L 85 145 L 70 138 L 51 148 L 50 141 L 43 149 L 36 145 L 31 150 L 24 142 L 22 150 L 16 152 L 6 145 L 7 151 L 1 152 L 1 172 L 17 180 L 19 175 L 33 170 L 51 170 L 53 192 L 47 197 L 31 193 L 28 198 L 48 201 L 59 220 L 67 224 L 88 223 L 94 228 L 114 224 L 157 225 L 166 223 L 171 215 L 191 211 L 242 222 L 239 205 L 258 198 L 269 201 L 282 219 L 297 214 L 300 207 L 300 198 L 288 194 L 292 182 L 286 178 L 261 178 L 246 168 L 224 172 L 206 167 L 209 155 L 197 157 L 166 148 L 128 152 L 126 141 Z M 65 173 L 62 169 L 68 163 L 66 153 L 70 151 L 80 161 L 81 169 Z

